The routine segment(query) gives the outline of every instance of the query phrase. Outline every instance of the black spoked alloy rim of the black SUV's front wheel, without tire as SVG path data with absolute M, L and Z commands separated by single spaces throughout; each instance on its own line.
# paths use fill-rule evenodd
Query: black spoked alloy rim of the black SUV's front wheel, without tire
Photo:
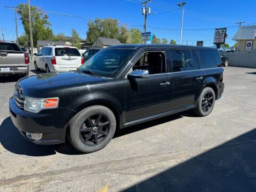
M 86 146 L 99 145 L 109 134 L 109 119 L 102 114 L 90 116 L 80 127 L 79 138 Z

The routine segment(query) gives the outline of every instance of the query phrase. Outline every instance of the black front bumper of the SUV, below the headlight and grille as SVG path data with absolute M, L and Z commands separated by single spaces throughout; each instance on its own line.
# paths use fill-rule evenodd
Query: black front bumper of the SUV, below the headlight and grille
M 19 108 L 14 98 L 9 100 L 10 116 L 13 124 L 27 140 L 40 145 L 52 145 L 65 142 L 66 129 L 74 111 L 69 108 L 42 110 L 30 113 Z M 42 133 L 39 140 L 27 137 L 26 133 Z

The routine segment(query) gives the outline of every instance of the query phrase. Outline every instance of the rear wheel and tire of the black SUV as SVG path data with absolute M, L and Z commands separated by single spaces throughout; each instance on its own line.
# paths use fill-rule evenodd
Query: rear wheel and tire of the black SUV
M 197 107 L 194 112 L 196 115 L 204 117 L 211 113 L 215 104 L 215 92 L 211 87 L 205 87 L 199 95 Z

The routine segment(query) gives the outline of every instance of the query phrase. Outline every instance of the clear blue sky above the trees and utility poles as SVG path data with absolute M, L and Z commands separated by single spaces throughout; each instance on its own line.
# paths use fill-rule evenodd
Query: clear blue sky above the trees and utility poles
M 77 15 L 84 18 L 115 18 L 119 22 L 135 25 L 143 25 L 141 14 L 141 5 L 138 0 L 94 0 L 94 1 L 35 1 L 31 0 L 31 5 L 38 6 L 39 9 L 58 13 Z M 178 9 L 177 1 L 173 0 L 152 0 L 148 3 L 151 7 L 151 14 L 148 16 L 147 25 L 156 28 L 148 28 L 147 31 L 156 34 L 159 38 L 174 39 L 179 42 L 181 10 Z M 16 6 L 19 3 L 27 1 L 1 1 L 0 6 Z M 254 10 L 256 1 L 205 1 L 205 0 L 187 0 L 185 5 L 185 16 L 183 22 L 183 44 L 196 44 L 196 41 L 204 41 L 205 46 L 213 45 L 214 30 L 191 30 L 207 29 L 217 27 L 229 27 L 227 29 L 228 38 L 226 42 L 234 45 L 232 37 L 235 35 L 238 27 L 235 22 L 246 21 L 243 25 L 256 23 Z M 164 13 L 166 12 L 166 13 Z M 70 36 L 71 28 L 75 28 L 81 38 L 86 38 L 87 22 L 86 19 L 64 17 L 52 13 L 49 15 L 51 28 L 54 34 L 64 33 Z M 19 18 L 19 17 L 18 17 Z M 14 11 L 0 7 L 0 28 L 4 28 L 5 39 L 15 39 Z M 131 28 L 132 26 L 127 26 Z M 141 30 L 143 27 L 139 27 Z M 170 30 L 174 29 L 174 30 Z M 20 20 L 18 20 L 18 33 L 24 32 Z M 1 34 L 2 35 L 2 34 Z

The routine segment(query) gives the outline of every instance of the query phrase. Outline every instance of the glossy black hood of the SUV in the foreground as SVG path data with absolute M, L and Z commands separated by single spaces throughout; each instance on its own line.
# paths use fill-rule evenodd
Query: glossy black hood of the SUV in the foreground
M 69 89 L 105 81 L 108 81 L 108 79 L 70 71 L 29 76 L 20 79 L 18 84 L 21 86 L 23 94 L 36 97 L 38 94 L 43 95 L 43 91 L 46 90 Z

